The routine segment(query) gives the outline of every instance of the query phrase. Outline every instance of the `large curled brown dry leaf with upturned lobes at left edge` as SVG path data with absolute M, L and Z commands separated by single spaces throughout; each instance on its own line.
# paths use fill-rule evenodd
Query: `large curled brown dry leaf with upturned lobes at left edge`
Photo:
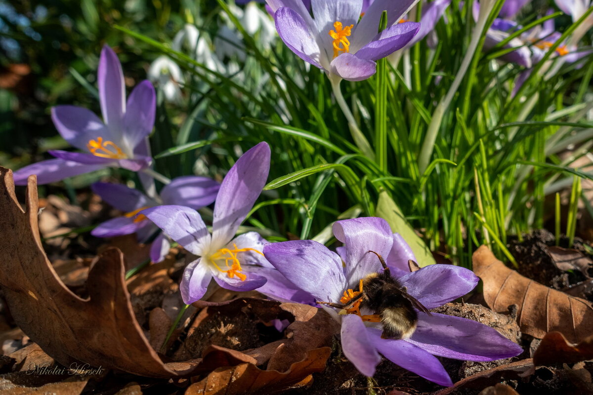
M 188 374 L 193 362 L 163 364 L 136 322 L 124 281 L 122 253 L 106 251 L 91 268 L 88 299 L 65 287 L 43 252 L 37 229 L 36 178 L 27 210 L 14 195 L 12 172 L 0 168 L 0 285 L 15 323 L 60 364 L 85 362 L 149 377 Z

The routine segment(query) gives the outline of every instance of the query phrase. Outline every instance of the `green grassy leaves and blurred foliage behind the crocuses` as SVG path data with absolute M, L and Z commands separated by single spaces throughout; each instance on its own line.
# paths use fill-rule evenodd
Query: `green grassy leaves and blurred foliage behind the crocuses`
M 409 50 L 409 75 L 402 62 L 388 69 L 385 98 L 376 95 L 375 77 L 342 82 L 346 101 L 373 145 L 381 144 L 374 139 L 375 104 L 388 102 L 388 140 L 382 142 L 388 161 L 382 168 L 353 144 L 326 76 L 278 39 L 262 45 L 264 32 L 247 32 L 232 1 L 0 2 L 0 164 L 16 169 L 51 158 L 48 149 L 68 147 L 52 124 L 53 105 L 79 105 L 100 114 L 96 70 L 104 44 L 118 54 L 128 92 L 146 78 L 155 59 L 167 56 L 186 77 L 177 82 L 183 91 L 177 102 L 167 101 L 157 84 L 151 144 L 153 153 L 164 153 L 156 159 L 157 171 L 171 178 L 220 177 L 241 150 L 265 140 L 273 149 L 268 181 L 283 177 L 282 186 L 264 191 L 248 224 L 267 236 L 317 235 L 329 242 L 327 226 L 337 218 L 398 210 L 393 202 L 387 208 L 378 204 L 386 192 L 432 251 L 467 266 L 474 246 L 490 243 L 500 252 L 507 236 L 520 237 L 554 220 L 550 197 L 570 194 L 574 163 L 591 149 L 586 103 L 592 97 L 593 62 L 589 54 L 579 67 L 565 65 L 553 78 L 533 79 L 524 97 L 514 99 L 510 92 L 521 68 L 477 53 L 471 78 L 463 81 L 442 121 L 432 166 L 422 173 L 417 161 L 426 127 L 471 37 L 473 20 L 462 4 L 452 1 L 446 14 L 452 23 L 439 21 L 434 46 L 423 40 Z M 557 10 L 551 1 L 531 2 L 519 23 L 537 21 L 549 7 Z M 555 22 L 560 31 L 571 24 L 568 15 Z M 221 65 L 188 55 L 191 49 L 172 49 L 186 24 L 207 40 L 206 49 L 218 53 Z M 584 45 L 591 46 L 590 35 Z M 514 121 L 540 124 L 504 126 Z M 324 165 L 334 168 L 316 167 Z M 590 178 L 588 166 L 581 175 Z M 41 193 L 65 191 L 72 197 L 74 188 L 108 176 L 135 179 L 121 169 L 105 170 L 43 187 Z M 582 201 L 590 215 L 587 191 L 582 190 Z M 563 207 L 574 204 L 567 199 Z

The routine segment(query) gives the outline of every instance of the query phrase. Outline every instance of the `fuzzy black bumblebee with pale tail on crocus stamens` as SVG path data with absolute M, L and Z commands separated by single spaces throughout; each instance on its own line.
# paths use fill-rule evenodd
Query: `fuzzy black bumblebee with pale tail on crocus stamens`
M 320 302 L 336 309 L 345 310 L 347 314 L 358 314 L 363 320 L 369 322 L 381 322 L 383 339 L 409 339 L 416 330 L 418 313 L 430 314 L 422 303 L 407 293 L 406 287 L 401 285 L 397 278 L 391 275 L 385 260 L 377 252 L 369 251 L 377 255 L 381 261 L 383 271 L 366 275 L 360 281 L 359 291 L 347 290 L 340 303 Z M 364 316 L 360 309 L 374 311 L 371 316 Z

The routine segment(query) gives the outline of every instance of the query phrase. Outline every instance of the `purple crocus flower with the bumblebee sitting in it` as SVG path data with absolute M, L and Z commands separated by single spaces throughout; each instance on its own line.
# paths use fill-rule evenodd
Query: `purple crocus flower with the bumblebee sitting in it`
M 362 278 L 382 270 L 374 251 L 388 256 L 394 242 L 387 222 L 368 217 L 334 223 L 334 235 L 345 243 L 343 262 L 324 245 L 313 240 L 270 243 L 264 247 L 267 260 L 297 287 L 318 301 L 346 303 L 350 291 L 356 292 Z M 387 260 L 394 275 L 399 264 Z M 452 265 L 429 265 L 398 278 L 407 292 L 426 308 L 433 309 L 472 290 L 478 278 L 468 269 Z M 514 357 L 521 347 L 496 330 L 473 320 L 444 314 L 418 312 L 417 329 L 409 339 L 382 339 L 381 323 L 368 322 L 372 311 L 341 311 L 323 307 L 342 324 L 342 349 L 355 367 L 367 376 L 375 373 L 380 354 L 397 365 L 443 386 L 451 378 L 434 357 L 468 361 L 492 361 Z M 346 313 L 346 314 L 343 314 Z M 358 315 L 361 314 L 361 315 Z

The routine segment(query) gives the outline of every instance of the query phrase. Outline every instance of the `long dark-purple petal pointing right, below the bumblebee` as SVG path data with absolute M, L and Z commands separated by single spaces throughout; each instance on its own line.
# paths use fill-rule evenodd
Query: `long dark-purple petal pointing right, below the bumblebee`
M 463 361 L 494 361 L 521 354 L 521 346 L 495 329 L 462 317 L 419 313 L 409 342 L 439 357 Z

